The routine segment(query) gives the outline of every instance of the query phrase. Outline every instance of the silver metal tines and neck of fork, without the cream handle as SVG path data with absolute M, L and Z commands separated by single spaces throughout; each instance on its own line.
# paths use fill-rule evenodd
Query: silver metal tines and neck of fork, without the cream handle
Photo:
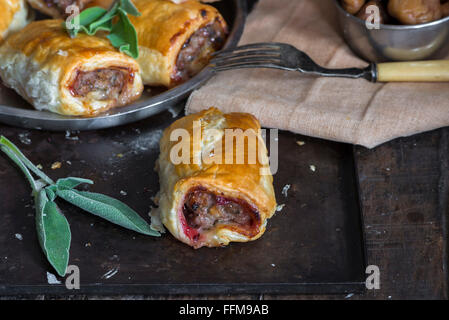
M 327 69 L 316 64 L 306 53 L 285 43 L 254 43 L 216 52 L 210 62 L 215 71 L 242 68 L 274 68 L 299 71 L 324 77 L 343 77 L 377 81 L 377 68 Z

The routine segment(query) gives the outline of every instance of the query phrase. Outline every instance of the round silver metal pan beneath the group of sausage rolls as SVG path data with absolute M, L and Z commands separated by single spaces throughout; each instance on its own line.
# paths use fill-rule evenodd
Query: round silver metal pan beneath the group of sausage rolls
M 247 7 L 245 0 L 225 0 L 214 4 L 230 26 L 225 48 L 236 46 L 243 32 Z M 213 76 L 205 68 L 189 81 L 170 90 L 145 88 L 142 97 L 133 104 L 112 109 L 96 117 L 70 117 L 34 110 L 13 90 L 0 84 L 0 122 L 30 129 L 65 131 L 94 130 L 138 121 L 175 105 Z

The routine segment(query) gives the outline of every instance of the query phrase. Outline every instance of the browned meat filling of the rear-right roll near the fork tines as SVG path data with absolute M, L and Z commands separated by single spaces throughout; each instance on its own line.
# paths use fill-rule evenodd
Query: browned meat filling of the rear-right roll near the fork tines
M 197 30 L 178 54 L 172 80 L 179 84 L 199 73 L 209 63 L 211 54 L 223 47 L 226 30 L 215 21 Z

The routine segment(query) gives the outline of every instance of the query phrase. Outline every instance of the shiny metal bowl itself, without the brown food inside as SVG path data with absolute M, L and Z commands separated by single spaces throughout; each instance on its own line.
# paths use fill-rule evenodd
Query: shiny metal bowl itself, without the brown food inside
M 334 0 L 344 39 L 361 58 L 371 62 L 441 59 L 449 52 L 449 17 L 420 25 L 381 24 L 368 29 L 366 22 L 346 12 Z

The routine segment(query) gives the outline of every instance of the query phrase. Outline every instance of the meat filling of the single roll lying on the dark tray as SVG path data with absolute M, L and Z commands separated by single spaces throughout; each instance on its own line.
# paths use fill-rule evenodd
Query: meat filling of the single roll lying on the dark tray
M 250 237 L 259 232 L 259 213 L 244 200 L 225 198 L 203 188 L 190 191 L 185 199 L 186 222 L 199 233 L 218 225 L 233 226 Z

